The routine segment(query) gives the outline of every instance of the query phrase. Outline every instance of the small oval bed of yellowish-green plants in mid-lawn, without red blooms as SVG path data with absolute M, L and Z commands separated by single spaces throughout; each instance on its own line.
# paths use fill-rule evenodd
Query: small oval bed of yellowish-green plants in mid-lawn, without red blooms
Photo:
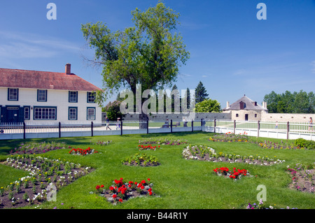
M 137 153 L 131 157 L 126 157 L 122 163 L 127 166 L 158 166 L 160 165 L 158 158 L 148 155 Z

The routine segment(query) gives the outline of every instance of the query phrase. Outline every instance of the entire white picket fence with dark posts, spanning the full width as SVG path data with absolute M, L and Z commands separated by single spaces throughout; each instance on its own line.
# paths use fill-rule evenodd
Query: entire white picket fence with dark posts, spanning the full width
M 223 134 L 228 132 L 244 134 L 246 132 L 248 136 L 315 140 L 315 126 L 310 126 L 305 122 L 242 122 L 233 120 L 0 123 L 0 140 L 172 133 L 179 131 L 207 131 Z

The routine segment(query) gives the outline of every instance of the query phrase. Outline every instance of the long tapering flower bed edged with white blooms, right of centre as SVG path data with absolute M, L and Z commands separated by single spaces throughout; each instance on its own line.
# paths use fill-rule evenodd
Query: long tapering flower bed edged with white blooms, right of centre
M 204 145 L 188 145 L 184 148 L 182 155 L 185 159 L 197 159 L 204 161 L 223 161 L 229 163 L 241 162 L 246 164 L 255 164 L 261 166 L 271 166 L 273 164 L 281 164 L 285 160 L 269 158 L 268 156 L 260 157 L 258 155 L 241 156 L 239 154 L 226 154 L 223 152 L 216 153 L 216 150 Z

